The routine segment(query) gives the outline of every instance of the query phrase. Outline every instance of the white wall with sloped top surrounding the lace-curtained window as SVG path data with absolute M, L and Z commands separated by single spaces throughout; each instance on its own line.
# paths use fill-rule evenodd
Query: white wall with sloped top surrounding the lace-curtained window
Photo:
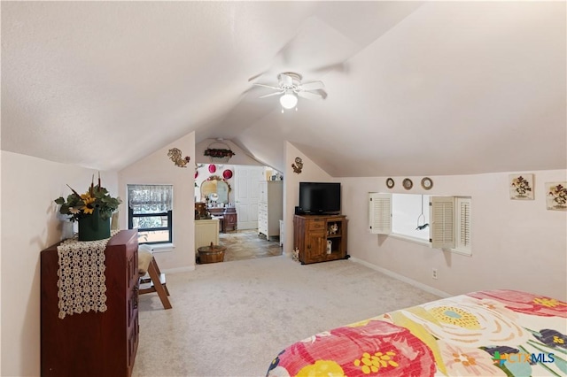
M 167 157 L 167 151 L 178 148 L 189 156 L 187 167 L 178 167 Z M 173 184 L 173 237 L 175 250 L 155 253 L 162 270 L 187 271 L 195 268 L 195 133 L 172 142 L 151 155 L 120 170 L 120 196 L 128 198 L 128 184 Z M 128 228 L 127 204 L 120 205 L 120 227 Z

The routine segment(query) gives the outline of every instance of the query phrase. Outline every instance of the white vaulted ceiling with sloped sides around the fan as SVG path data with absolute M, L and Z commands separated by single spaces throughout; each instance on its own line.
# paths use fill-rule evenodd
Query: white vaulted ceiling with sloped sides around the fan
M 120 169 L 183 135 L 333 176 L 567 167 L 565 2 L 2 2 L 2 150 Z M 281 113 L 277 73 L 325 83 Z

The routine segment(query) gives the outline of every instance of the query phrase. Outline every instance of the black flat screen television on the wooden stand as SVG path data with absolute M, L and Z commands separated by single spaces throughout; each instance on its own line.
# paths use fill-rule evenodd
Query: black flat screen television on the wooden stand
M 334 215 L 340 213 L 340 183 L 299 182 L 299 213 Z

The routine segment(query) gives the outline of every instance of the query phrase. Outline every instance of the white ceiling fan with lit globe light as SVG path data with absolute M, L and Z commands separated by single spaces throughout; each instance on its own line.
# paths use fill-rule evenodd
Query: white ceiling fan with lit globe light
M 317 91 L 325 88 L 322 81 L 301 82 L 301 79 L 302 76 L 299 73 L 284 72 L 277 75 L 277 86 L 260 83 L 254 83 L 254 85 L 276 90 L 259 98 L 280 96 L 280 104 L 282 104 L 283 109 L 292 109 L 298 104 L 298 96 L 307 99 L 321 99 L 323 97 L 322 93 L 317 93 Z

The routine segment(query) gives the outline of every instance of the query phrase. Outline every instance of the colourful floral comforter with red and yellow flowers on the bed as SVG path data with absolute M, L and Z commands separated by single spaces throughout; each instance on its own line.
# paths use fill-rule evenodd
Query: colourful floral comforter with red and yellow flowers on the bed
M 513 290 L 440 299 L 296 342 L 268 376 L 564 376 L 567 304 Z

